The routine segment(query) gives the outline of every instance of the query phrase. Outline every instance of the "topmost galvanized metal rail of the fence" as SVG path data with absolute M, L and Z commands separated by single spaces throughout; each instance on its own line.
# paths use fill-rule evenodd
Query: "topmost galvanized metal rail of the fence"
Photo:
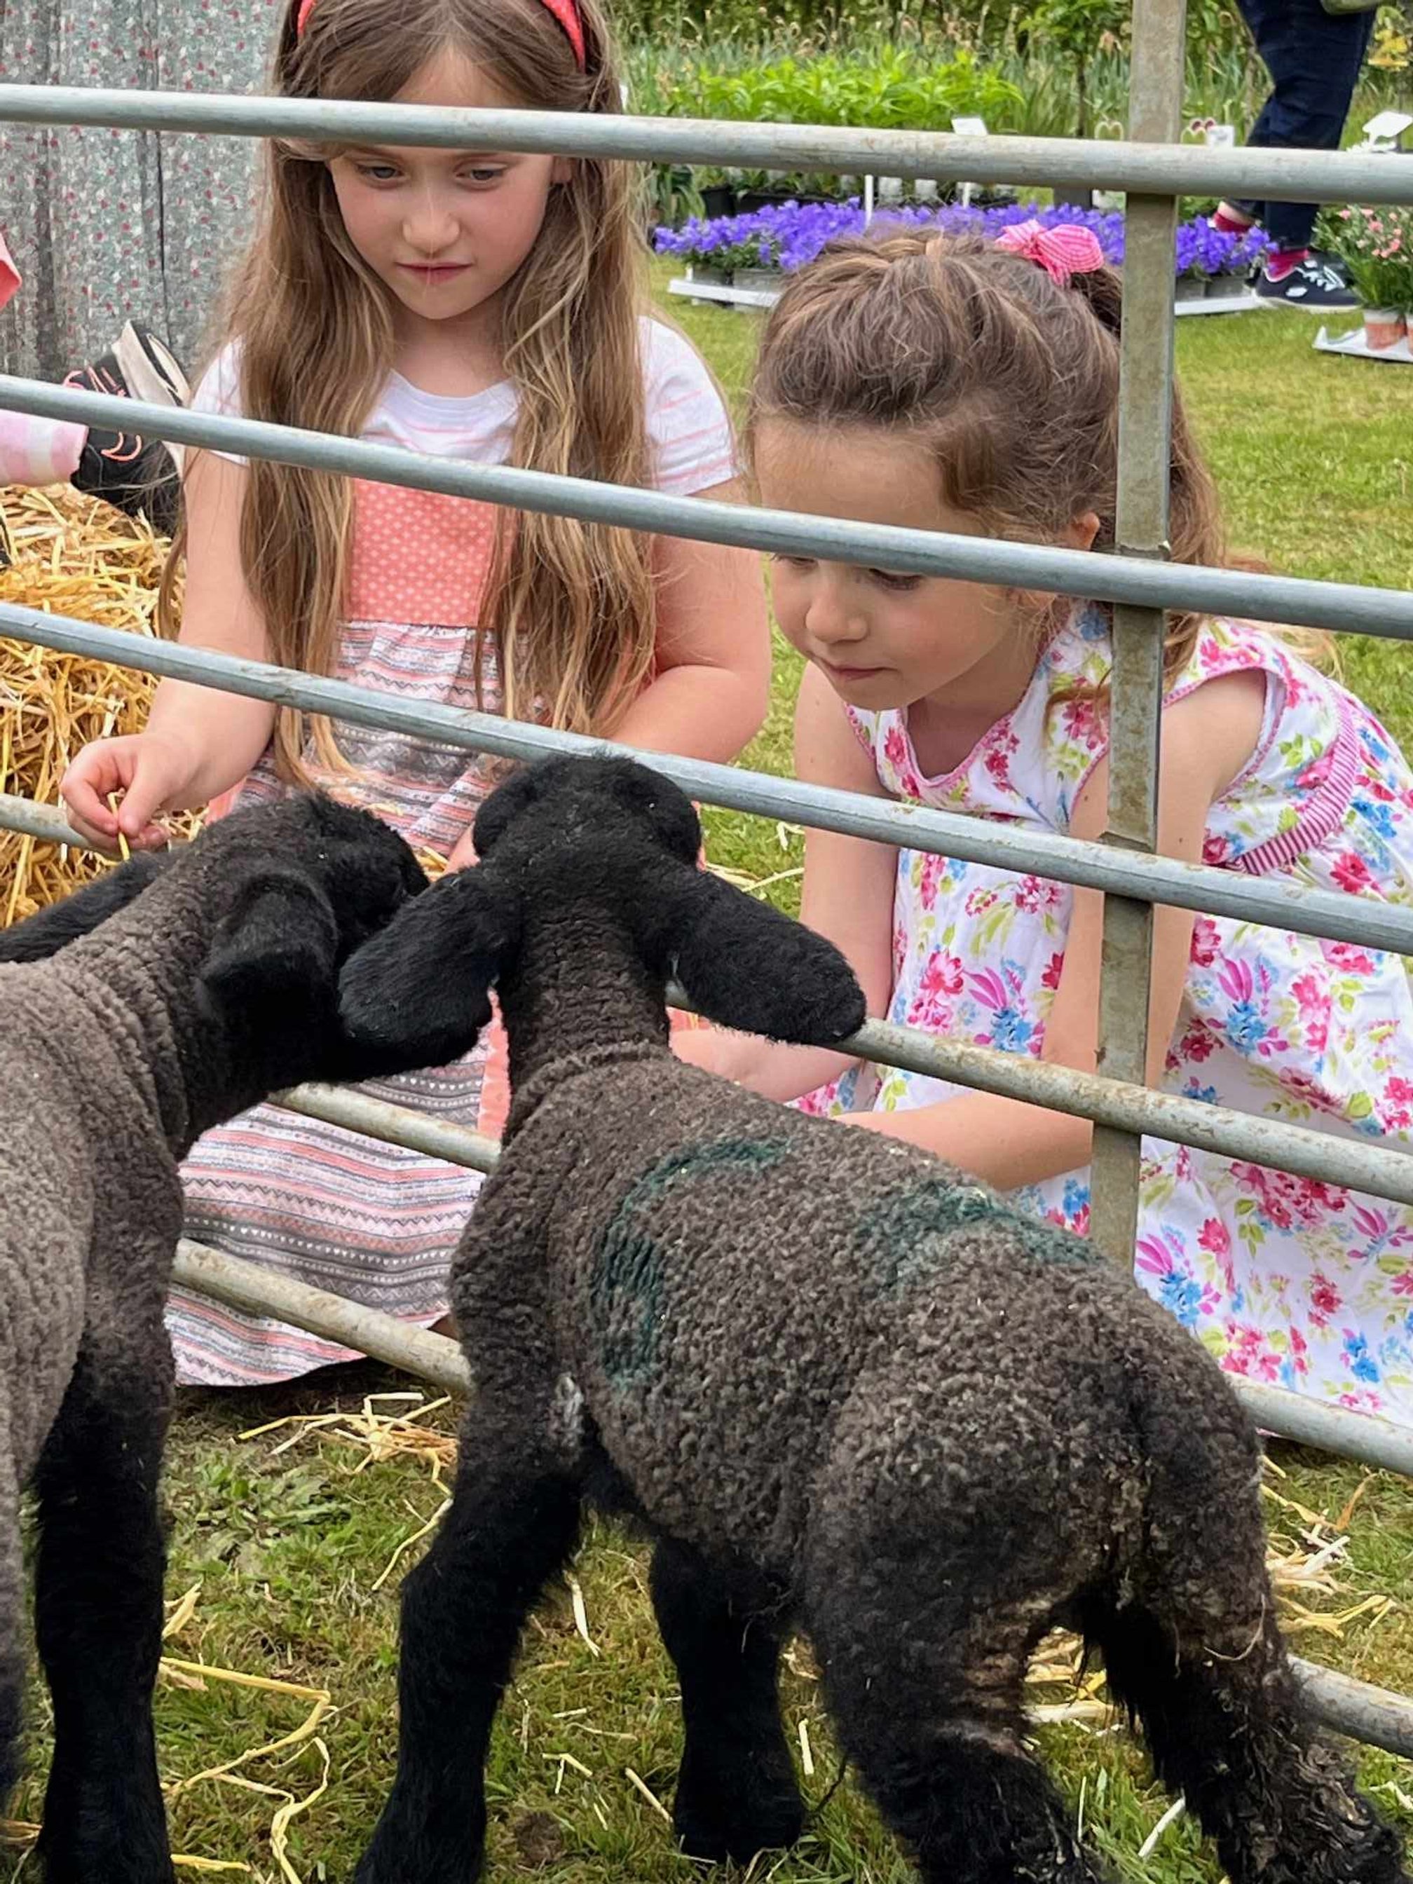
M 639 162 L 740 164 L 889 177 L 966 177 L 1108 190 L 1251 196 L 1260 202 L 1405 203 L 1405 166 L 1366 153 L 1215 151 L 1096 138 L 959 138 L 951 132 L 855 130 L 825 124 L 723 124 L 710 119 L 601 117 L 556 111 L 452 111 L 333 98 L 247 98 L 220 92 L 121 92 L 0 85 L 0 121 L 230 138 L 405 143 L 469 151 L 543 151 Z

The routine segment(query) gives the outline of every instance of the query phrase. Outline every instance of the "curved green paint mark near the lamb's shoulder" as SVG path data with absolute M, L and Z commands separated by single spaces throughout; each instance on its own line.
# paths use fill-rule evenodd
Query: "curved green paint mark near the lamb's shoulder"
M 641 1385 L 658 1362 L 663 1251 L 642 1228 L 646 1211 L 684 1183 L 718 1172 L 763 1172 L 788 1151 L 780 1138 L 714 1138 L 671 1151 L 633 1179 L 609 1219 L 590 1279 L 593 1334 L 616 1389 Z

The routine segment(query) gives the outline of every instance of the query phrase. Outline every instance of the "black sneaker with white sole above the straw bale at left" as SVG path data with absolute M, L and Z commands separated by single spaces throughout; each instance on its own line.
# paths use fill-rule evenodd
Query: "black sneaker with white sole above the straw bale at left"
M 156 341 L 160 347 L 156 352 L 149 345 L 153 341 L 156 335 L 130 322 L 113 352 L 94 360 L 92 365 L 75 367 L 64 377 L 64 384 L 121 399 L 149 398 L 158 405 L 183 405 L 187 377 L 168 349 Z M 164 537 L 177 529 L 181 452 L 160 439 L 143 439 L 136 431 L 104 431 L 94 426 L 89 430 L 79 467 L 70 482 L 89 497 L 104 497 L 128 516 L 145 516 Z

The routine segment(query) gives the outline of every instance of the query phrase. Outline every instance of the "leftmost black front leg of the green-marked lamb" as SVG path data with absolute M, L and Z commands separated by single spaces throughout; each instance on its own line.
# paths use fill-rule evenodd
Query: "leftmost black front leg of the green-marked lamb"
M 509 1439 L 509 1443 L 507 1443 Z M 403 1584 L 398 1778 L 356 1884 L 473 1884 L 486 1746 L 526 1616 L 578 1535 L 578 1483 L 473 1402 L 452 1509 Z

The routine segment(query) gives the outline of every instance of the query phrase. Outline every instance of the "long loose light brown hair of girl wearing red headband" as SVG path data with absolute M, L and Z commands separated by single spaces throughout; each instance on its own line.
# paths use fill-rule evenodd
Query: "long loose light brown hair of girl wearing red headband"
M 618 111 L 622 94 L 597 0 L 578 0 L 586 58 L 543 0 L 317 0 L 294 6 L 275 55 L 286 98 L 392 100 L 443 51 L 482 70 L 516 104 Z M 241 411 L 356 437 L 394 364 L 392 298 L 349 241 L 328 173 L 335 145 L 269 139 L 264 211 L 234 286 L 226 337 L 239 341 Z M 642 226 L 629 164 L 577 158 L 505 294 L 505 375 L 518 409 L 511 458 L 537 471 L 642 484 L 648 471 L 641 364 Z M 241 561 L 271 658 L 330 673 L 345 612 L 352 490 L 330 473 L 251 460 Z M 181 541 L 173 546 L 175 567 Z M 170 595 L 168 595 L 170 605 Z M 170 607 L 168 607 L 170 614 Z M 503 710 L 601 731 L 652 667 L 646 537 L 561 516 L 497 512 L 479 624 L 495 652 Z M 307 782 L 313 737 L 337 765 L 328 722 L 281 710 L 275 763 Z

